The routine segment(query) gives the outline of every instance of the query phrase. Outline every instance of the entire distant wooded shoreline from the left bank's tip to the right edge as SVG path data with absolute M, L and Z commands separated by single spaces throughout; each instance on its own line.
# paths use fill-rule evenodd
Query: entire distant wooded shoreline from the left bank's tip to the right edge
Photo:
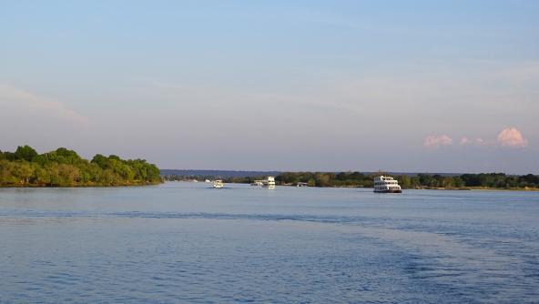
M 281 186 L 310 187 L 372 187 L 373 178 L 388 175 L 384 172 L 364 174 L 360 172 L 282 172 L 275 177 Z M 402 188 L 426 189 L 522 189 L 539 190 L 539 176 L 506 175 L 504 173 L 480 173 L 462 175 L 398 174 L 392 175 Z M 171 180 L 223 179 L 226 183 L 252 183 L 258 177 L 198 177 L 168 176 Z

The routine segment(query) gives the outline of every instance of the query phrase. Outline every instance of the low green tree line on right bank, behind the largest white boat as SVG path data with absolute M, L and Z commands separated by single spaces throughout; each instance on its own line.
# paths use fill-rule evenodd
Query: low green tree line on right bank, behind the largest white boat
M 381 173 L 383 174 L 383 173 Z M 276 177 L 276 181 L 285 185 L 308 183 L 315 187 L 372 187 L 373 178 L 379 176 L 365 175 L 359 172 L 286 172 Z M 418 174 L 415 176 L 393 176 L 403 188 L 462 188 L 462 187 L 539 187 L 539 176 L 528 174 L 512 176 L 503 173 L 463 174 L 459 176 L 442 176 Z

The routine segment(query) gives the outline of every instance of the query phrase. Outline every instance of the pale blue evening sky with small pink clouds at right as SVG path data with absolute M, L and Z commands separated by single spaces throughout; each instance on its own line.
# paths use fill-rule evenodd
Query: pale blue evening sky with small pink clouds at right
M 17 1 L 0 149 L 539 173 L 536 1 Z

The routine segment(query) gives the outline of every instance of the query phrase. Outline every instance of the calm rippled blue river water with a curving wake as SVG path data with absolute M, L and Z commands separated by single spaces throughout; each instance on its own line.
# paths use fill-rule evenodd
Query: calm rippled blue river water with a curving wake
M 539 193 L 0 189 L 0 302 L 539 303 Z

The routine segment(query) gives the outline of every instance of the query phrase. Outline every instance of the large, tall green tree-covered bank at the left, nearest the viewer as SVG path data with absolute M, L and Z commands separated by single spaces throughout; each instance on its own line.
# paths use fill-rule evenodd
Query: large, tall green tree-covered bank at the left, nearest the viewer
M 144 159 L 97 154 L 88 161 L 59 147 L 38 154 L 29 146 L 0 151 L 0 187 L 105 187 L 158 184 L 160 171 Z

